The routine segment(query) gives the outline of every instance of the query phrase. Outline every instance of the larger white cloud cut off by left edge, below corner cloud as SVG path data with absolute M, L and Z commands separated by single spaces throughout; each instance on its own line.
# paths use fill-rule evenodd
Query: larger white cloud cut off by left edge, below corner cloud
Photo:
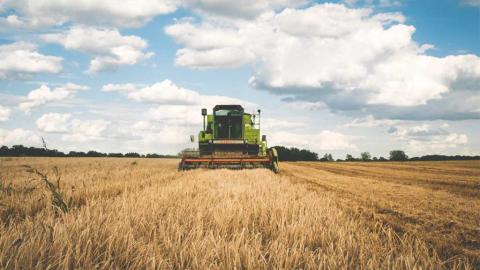
M 38 73 L 58 73 L 62 58 L 43 55 L 32 43 L 0 45 L 0 80 L 28 79 Z

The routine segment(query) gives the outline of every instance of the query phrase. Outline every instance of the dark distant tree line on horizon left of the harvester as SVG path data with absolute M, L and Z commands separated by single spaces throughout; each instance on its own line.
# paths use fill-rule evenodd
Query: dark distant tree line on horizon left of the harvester
M 159 155 L 159 154 L 139 154 L 130 152 L 122 153 L 102 153 L 97 151 L 77 152 L 70 151 L 63 153 L 56 149 L 25 147 L 23 145 L 14 145 L 12 147 L 0 147 L 0 156 L 2 157 L 133 157 L 133 158 L 172 158 L 174 155 Z

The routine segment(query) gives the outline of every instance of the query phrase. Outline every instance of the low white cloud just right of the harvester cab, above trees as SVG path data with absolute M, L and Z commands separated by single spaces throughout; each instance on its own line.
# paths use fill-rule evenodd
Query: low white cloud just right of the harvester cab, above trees
M 356 150 L 354 138 L 339 132 L 323 130 L 318 133 L 270 132 L 269 145 L 283 145 L 312 151 Z

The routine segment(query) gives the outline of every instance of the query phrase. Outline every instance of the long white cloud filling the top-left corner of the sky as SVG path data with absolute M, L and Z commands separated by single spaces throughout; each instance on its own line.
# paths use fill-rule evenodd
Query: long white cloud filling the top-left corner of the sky
M 0 9 L 17 14 L 1 18 L 0 26 L 44 28 L 67 22 L 138 27 L 154 16 L 176 10 L 176 0 L 5 0 Z

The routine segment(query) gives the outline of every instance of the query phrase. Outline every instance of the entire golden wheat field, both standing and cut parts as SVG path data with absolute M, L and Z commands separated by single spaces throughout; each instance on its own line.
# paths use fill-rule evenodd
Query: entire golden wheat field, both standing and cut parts
M 0 268 L 475 269 L 480 163 L 1 158 Z

